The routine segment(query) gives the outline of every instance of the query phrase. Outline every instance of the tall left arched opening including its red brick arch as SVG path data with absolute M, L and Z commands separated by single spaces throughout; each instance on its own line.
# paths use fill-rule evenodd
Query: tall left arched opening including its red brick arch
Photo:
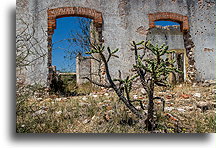
M 47 14 L 48 85 L 54 92 L 65 95 L 68 92 L 65 86 L 75 90 L 73 87 L 86 83 L 83 77 L 100 77 L 95 76 L 96 70 L 92 68 L 99 64 L 85 52 L 90 49 L 89 43 L 102 42 L 102 13 L 84 7 L 60 7 L 48 9 Z M 57 85 L 53 85 L 55 81 Z M 69 85 L 70 81 L 74 86 Z M 69 95 L 73 93 L 76 92 L 70 91 Z

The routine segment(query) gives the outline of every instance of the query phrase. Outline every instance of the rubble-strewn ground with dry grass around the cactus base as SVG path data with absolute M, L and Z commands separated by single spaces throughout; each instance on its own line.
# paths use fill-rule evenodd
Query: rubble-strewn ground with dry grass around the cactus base
M 165 106 L 163 111 L 161 100 L 155 100 L 157 128 L 154 132 L 216 132 L 214 83 L 156 88 L 155 96 L 164 98 Z M 134 90 L 131 97 L 147 106 L 148 99 L 142 88 Z M 147 133 L 144 122 L 136 119 L 112 90 L 74 97 L 35 93 L 18 107 L 17 132 Z M 136 108 L 141 110 L 138 104 Z

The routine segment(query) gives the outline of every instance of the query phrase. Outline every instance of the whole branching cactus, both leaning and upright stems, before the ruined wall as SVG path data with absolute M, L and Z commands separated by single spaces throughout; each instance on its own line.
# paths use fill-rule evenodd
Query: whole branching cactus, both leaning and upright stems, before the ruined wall
M 174 60 L 169 60 L 168 58 L 162 58 L 166 54 L 170 54 L 172 52 L 168 51 L 168 46 L 165 44 L 161 45 L 160 47 L 158 45 L 154 46 L 151 44 L 151 42 L 147 41 L 141 41 L 140 43 L 135 43 L 134 41 L 131 43 L 132 50 L 134 50 L 135 54 L 135 65 L 134 68 L 136 70 L 136 75 L 132 77 L 127 77 L 126 79 L 121 78 L 121 71 L 119 71 L 119 78 L 114 79 L 110 75 L 108 62 L 111 57 L 117 57 L 115 55 L 116 52 L 118 52 L 119 49 L 115 49 L 113 51 L 110 50 L 109 47 L 107 47 L 108 56 L 104 55 L 104 49 L 105 47 L 103 45 L 99 46 L 92 46 L 93 48 L 90 50 L 90 52 L 87 52 L 88 54 L 99 54 L 102 62 L 104 63 L 105 70 L 106 70 L 106 76 L 108 80 L 108 84 L 101 84 L 99 82 L 95 82 L 87 77 L 85 79 L 88 79 L 93 84 L 96 84 L 101 87 L 106 88 L 113 88 L 116 94 L 118 95 L 119 99 L 123 101 L 123 103 L 134 113 L 138 118 L 145 119 L 146 127 L 149 131 L 152 131 L 155 127 L 155 121 L 154 121 L 154 100 L 155 99 L 161 99 L 163 102 L 163 108 L 164 108 L 164 100 L 160 97 L 154 96 L 154 89 L 155 85 L 157 86 L 168 86 L 167 78 L 171 72 L 180 72 L 176 67 L 174 67 Z M 138 50 L 143 50 L 143 54 L 139 55 Z M 151 53 L 151 57 L 147 58 L 145 55 L 147 52 Z M 132 83 L 133 80 L 139 77 L 141 84 L 143 88 L 146 90 L 148 95 L 148 113 L 147 115 L 143 114 L 141 111 L 136 109 L 136 107 L 133 105 L 133 102 L 139 102 L 141 108 L 144 110 L 145 107 L 142 104 L 141 100 L 135 100 L 131 99 L 130 92 L 132 89 Z

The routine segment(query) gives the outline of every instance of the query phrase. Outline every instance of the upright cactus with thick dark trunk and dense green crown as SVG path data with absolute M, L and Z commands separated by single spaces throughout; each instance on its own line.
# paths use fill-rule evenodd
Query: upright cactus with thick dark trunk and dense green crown
M 132 42 L 132 49 L 135 54 L 134 68 L 136 69 L 137 74 L 139 75 L 141 84 L 146 90 L 148 95 L 148 115 L 146 119 L 146 125 L 148 130 L 152 131 L 155 127 L 154 121 L 154 100 L 161 99 L 163 102 L 164 108 L 164 99 L 154 96 L 154 88 L 157 86 L 167 87 L 168 76 L 172 72 L 180 72 L 178 68 L 174 67 L 174 60 L 169 60 L 169 58 L 163 58 L 164 55 L 170 54 L 168 46 L 165 44 L 160 47 L 156 44 L 155 46 L 151 44 L 150 41 L 140 43 Z M 138 50 L 143 50 L 143 55 L 138 54 Z M 150 52 L 152 56 L 147 58 L 145 54 Z

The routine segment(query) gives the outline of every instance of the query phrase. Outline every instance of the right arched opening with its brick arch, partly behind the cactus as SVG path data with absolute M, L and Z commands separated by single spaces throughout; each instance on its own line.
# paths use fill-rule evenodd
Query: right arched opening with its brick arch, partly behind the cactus
M 170 81 L 173 83 L 185 81 L 187 79 L 186 63 L 188 60 L 184 46 L 183 32 L 189 30 L 188 18 L 171 12 L 151 13 L 149 14 L 149 28 L 147 40 L 159 45 L 166 43 L 170 51 L 175 51 L 168 58 L 176 61 L 176 67 L 182 73 L 172 73 Z

